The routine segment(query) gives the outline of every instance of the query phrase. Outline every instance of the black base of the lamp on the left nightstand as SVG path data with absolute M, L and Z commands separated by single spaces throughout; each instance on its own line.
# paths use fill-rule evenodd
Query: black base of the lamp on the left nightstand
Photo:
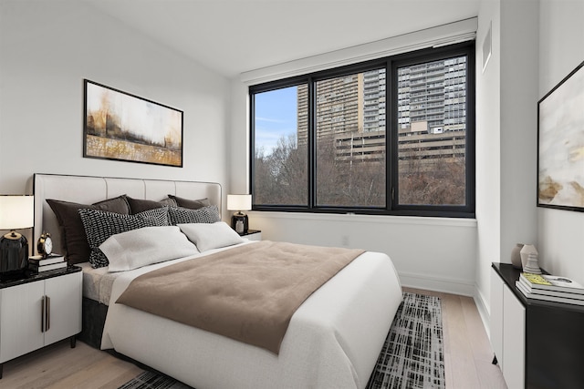
M 0 279 L 25 275 L 28 268 L 28 241 L 24 235 L 10 231 L 0 237 Z

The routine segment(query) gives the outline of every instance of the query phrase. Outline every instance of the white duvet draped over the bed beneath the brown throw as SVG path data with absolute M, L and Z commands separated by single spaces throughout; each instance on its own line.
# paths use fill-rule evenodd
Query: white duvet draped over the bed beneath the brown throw
M 102 349 L 114 348 L 197 389 L 365 387 L 401 302 L 387 255 L 362 254 L 314 292 L 292 316 L 278 355 L 114 303 L 133 278 L 184 260 L 115 278 Z

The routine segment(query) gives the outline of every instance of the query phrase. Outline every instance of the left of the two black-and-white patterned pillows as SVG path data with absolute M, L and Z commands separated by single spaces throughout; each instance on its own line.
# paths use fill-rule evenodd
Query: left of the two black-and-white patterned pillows
M 128 230 L 141 229 L 143 227 L 163 226 L 164 220 L 168 220 L 166 207 L 146 210 L 136 215 L 121 215 L 103 210 L 78 210 L 83 223 L 89 248 L 89 263 L 93 268 L 108 266 L 108 258 L 99 250 L 99 245 L 110 238 Z

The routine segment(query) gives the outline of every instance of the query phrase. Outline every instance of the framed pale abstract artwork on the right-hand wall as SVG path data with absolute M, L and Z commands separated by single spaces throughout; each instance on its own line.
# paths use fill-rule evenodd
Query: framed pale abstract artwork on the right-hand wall
M 537 102 L 537 207 L 584 212 L 584 62 Z

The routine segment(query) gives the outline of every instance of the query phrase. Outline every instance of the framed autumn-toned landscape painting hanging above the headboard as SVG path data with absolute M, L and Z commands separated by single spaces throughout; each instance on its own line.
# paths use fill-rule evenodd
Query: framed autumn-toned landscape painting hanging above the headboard
M 84 80 L 83 157 L 183 167 L 183 111 Z

